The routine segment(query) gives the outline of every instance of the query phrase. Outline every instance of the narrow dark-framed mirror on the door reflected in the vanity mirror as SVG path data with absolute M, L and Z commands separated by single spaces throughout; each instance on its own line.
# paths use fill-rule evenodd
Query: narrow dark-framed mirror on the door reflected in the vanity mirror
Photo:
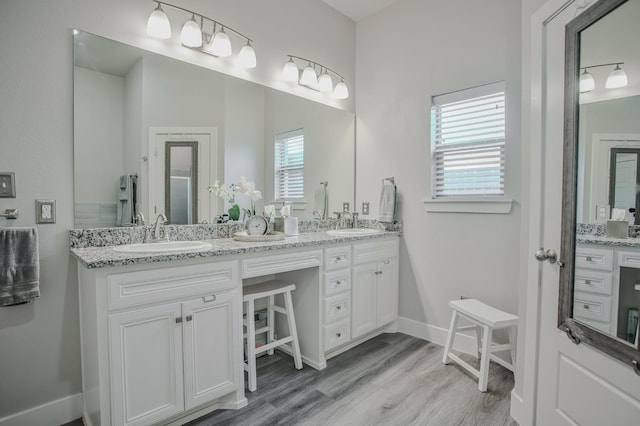
M 198 142 L 165 142 L 165 209 L 171 224 L 198 223 Z

